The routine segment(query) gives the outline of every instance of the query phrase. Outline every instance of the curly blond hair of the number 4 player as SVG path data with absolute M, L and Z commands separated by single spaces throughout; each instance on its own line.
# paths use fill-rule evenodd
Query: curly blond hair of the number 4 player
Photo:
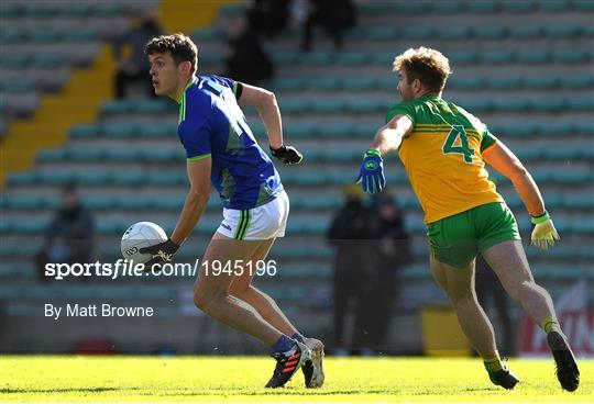
M 408 81 L 420 80 L 432 91 L 441 92 L 448 81 L 450 61 L 439 50 L 425 46 L 409 48 L 394 59 L 394 71 L 406 71 Z

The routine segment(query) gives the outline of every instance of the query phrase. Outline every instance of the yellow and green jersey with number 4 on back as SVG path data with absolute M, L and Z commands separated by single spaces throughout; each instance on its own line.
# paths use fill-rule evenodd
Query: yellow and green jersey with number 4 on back
M 398 154 L 425 211 L 425 223 L 504 202 L 482 157 L 496 138 L 479 119 L 435 96 L 395 104 L 386 123 L 396 115 L 413 121 L 413 132 Z

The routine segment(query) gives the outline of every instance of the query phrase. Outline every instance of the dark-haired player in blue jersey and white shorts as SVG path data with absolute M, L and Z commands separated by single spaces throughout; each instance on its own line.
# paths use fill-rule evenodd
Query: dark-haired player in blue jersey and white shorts
M 302 158 L 299 152 L 283 144 L 275 96 L 229 78 L 197 76 L 198 49 L 183 34 L 155 37 L 146 44 L 145 53 L 155 93 L 179 103 L 178 135 L 190 183 L 172 236 L 143 250 L 153 255 L 148 265 L 170 261 L 202 215 L 212 183 L 222 200 L 223 221 L 202 257 L 194 285 L 196 305 L 272 348 L 277 363 L 267 388 L 284 385 L 300 368 L 306 386 L 321 386 L 321 341 L 304 337 L 271 296 L 252 287 L 255 272 L 221 274 L 211 268 L 238 261 L 255 266 L 264 261 L 275 238 L 285 234 L 288 197 L 239 105 L 257 108 L 274 157 L 298 164 Z

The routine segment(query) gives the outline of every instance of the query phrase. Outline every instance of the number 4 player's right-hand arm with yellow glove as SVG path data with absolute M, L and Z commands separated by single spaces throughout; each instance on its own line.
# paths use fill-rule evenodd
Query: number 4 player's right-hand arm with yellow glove
M 517 189 L 535 225 L 530 235 L 532 245 L 542 249 L 554 246 L 559 234 L 544 209 L 538 186 L 521 161 L 499 141 L 483 152 L 483 159 L 507 177 Z

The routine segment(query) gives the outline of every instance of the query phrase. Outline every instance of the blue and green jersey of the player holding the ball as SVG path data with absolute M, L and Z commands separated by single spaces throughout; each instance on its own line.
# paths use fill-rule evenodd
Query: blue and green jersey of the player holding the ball
M 212 186 L 227 209 L 263 205 L 283 190 L 272 160 L 260 148 L 238 104 L 235 81 L 193 78 L 179 97 L 179 141 L 190 161 L 212 158 Z

